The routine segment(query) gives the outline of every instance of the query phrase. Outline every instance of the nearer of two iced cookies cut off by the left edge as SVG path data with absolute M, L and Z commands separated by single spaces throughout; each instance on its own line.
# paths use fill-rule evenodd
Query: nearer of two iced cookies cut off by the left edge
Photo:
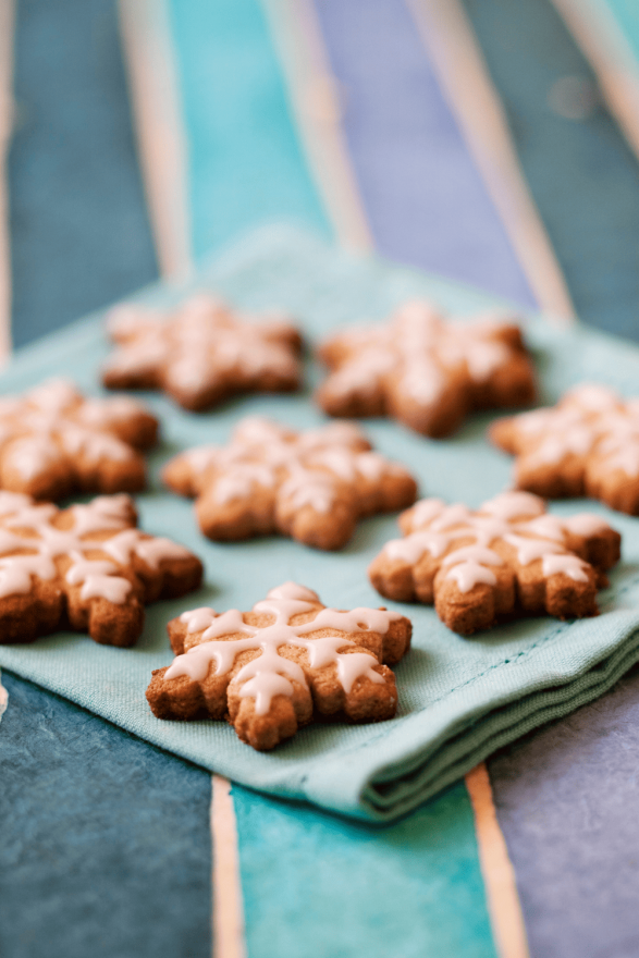
M 144 605 L 197 589 L 192 552 L 135 528 L 128 495 L 59 509 L 0 492 L 0 642 L 33 642 L 58 629 L 132 646 Z

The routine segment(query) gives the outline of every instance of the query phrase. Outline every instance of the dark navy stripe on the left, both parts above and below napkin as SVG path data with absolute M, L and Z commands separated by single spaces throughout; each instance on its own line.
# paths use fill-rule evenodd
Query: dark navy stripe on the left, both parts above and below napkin
M 157 277 L 112 0 L 17 4 L 20 345 Z M 0 954 L 210 955 L 210 776 L 3 675 Z

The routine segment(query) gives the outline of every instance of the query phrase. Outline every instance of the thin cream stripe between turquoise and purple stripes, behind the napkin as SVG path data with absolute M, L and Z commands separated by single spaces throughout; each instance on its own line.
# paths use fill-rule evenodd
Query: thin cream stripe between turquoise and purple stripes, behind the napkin
M 303 148 L 339 242 L 369 251 L 372 238 L 342 130 L 312 0 L 262 0 L 284 70 Z

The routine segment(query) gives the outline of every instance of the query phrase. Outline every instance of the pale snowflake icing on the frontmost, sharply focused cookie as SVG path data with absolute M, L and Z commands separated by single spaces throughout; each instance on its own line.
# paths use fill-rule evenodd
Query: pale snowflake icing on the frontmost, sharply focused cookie
M 304 670 L 297 662 L 280 654 L 282 647 L 303 649 L 311 668 L 334 664 L 337 680 L 348 693 L 359 678 L 383 683 L 374 671 L 378 663 L 371 652 L 348 652 L 356 646 L 344 632 L 377 632 L 384 636 L 392 622 L 402 618 L 400 613 L 379 609 L 354 609 L 339 612 L 319 609 L 316 592 L 285 582 L 271 589 L 267 598 L 256 603 L 254 612 L 267 614 L 273 622 L 262 627 L 248 625 L 243 614 L 231 609 L 217 615 L 212 609 L 196 609 L 183 613 L 180 618 L 188 632 L 205 629 L 199 642 L 187 652 L 177 655 L 164 673 L 164 680 L 187 676 L 192 681 L 202 681 L 211 664 L 216 675 L 225 675 L 233 668 L 241 652 L 259 651 L 259 655 L 246 663 L 231 679 L 238 687 L 242 698 L 255 699 L 257 715 L 266 715 L 275 696 L 292 696 L 294 683 L 307 688 Z M 317 612 L 310 622 L 292 625 L 296 615 Z M 329 629 L 328 636 L 307 638 L 314 632 Z M 225 641 L 219 639 L 225 637 Z

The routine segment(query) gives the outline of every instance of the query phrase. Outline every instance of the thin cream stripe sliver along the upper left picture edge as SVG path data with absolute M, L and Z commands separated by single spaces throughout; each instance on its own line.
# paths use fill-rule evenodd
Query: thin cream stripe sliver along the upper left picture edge
M 11 254 L 7 157 L 13 125 L 14 0 L 0 0 L 0 363 L 11 352 Z

